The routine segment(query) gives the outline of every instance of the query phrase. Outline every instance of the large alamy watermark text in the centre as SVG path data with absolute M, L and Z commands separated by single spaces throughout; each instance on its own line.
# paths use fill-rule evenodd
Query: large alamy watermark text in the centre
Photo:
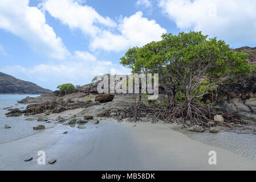
M 97 77 L 97 92 L 112 94 L 148 94 L 149 100 L 159 97 L 159 74 L 104 75 Z

